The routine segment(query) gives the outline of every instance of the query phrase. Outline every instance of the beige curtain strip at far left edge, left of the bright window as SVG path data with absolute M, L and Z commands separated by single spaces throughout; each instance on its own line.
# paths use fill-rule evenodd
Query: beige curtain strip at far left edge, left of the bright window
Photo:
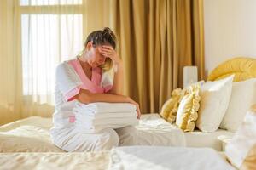
M 15 1 L 0 1 L 0 124 L 20 118 L 20 23 Z

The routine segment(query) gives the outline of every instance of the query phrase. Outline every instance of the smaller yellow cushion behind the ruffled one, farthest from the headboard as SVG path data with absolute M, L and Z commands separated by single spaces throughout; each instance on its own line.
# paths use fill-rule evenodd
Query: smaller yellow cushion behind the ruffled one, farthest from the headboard
M 183 90 L 181 88 L 173 90 L 171 98 L 168 99 L 166 103 L 162 106 L 160 116 L 166 119 L 167 122 L 172 123 L 175 121 L 177 107 L 181 96 L 183 96 Z

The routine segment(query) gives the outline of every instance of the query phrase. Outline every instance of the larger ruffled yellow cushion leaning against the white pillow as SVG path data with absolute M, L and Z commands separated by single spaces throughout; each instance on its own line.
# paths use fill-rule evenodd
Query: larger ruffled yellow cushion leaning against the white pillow
M 176 124 L 184 132 L 192 132 L 195 128 L 200 102 L 199 91 L 200 85 L 191 85 L 178 105 Z

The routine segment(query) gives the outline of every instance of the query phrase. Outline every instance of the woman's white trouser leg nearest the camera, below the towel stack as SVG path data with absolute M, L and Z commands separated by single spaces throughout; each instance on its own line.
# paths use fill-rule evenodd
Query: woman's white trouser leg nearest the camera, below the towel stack
M 75 127 L 55 128 L 50 130 L 53 143 L 68 152 L 111 150 L 119 145 L 119 136 L 107 128 L 99 133 L 82 133 Z

